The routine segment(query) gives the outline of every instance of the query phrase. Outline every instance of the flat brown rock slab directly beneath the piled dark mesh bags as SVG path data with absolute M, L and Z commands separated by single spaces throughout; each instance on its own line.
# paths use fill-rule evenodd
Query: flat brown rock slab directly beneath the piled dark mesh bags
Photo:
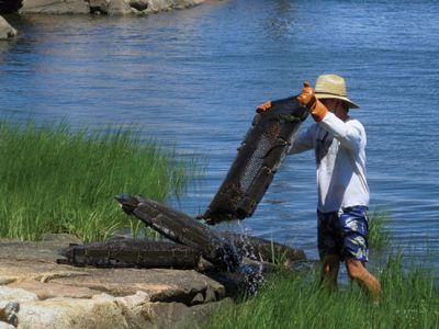
M 190 270 L 95 269 L 57 264 L 57 250 L 78 242 L 71 236 L 48 236 L 38 242 L 0 240 L 0 282 L 21 287 L 41 299 L 52 297 L 90 298 L 100 293 L 115 297 L 144 292 L 151 302 L 181 302 L 190 305 L 196 294 L 212 294 L 216 300 L 226 292 L 218 282 Z M 209 293 L 207 293 L 209 292 Z

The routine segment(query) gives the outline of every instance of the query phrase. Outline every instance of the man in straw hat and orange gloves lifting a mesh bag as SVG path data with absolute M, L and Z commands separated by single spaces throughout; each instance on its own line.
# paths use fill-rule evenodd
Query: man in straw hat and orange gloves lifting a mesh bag
M 335 75 L 318 77 L 315 90 L 304 83 L 299 102 L 315 123 L 300 132 L 290 154 L 314 149 L 317 164 L 318 253 L 323 262 L 320 282 L 337 288 L 340 262 L 351 280 L 373 298 L 381 295 L 378 280 L 365 269 L 368 261 L 369 188 L 365 180 L 365 131 L 349 117 L 359 106 L 348 99 L 345 79 Z M 269 111 L 271 102 L 258 106 Z

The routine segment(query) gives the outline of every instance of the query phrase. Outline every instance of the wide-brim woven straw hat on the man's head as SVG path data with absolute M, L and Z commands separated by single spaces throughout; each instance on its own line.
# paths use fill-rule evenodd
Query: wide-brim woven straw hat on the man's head
M 315 84 L 315 94 L 317 99 L 338 99 L 345 101 L 349 109 L 359 109 L 360 106 L 353 103 L 348 98 L 345 79 L 336 75 L 322 75 L 317 78 Z

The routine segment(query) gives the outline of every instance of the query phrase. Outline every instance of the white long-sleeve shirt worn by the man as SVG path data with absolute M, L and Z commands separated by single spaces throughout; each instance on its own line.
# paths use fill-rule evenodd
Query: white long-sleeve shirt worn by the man
M 323 121 L 297 134 L 289 154 L 315 149 L 320 212 L 369 206 L 365 144 L 365 131 L 359 121 L 342 122 L 330 112 Z

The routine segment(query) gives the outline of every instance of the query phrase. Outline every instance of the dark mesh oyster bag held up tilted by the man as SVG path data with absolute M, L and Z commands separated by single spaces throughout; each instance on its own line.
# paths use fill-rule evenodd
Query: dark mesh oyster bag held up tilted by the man
M 214 225 L 254 214 L 308 112 L 296 97 L 256 114 L 228 173 L 199 219 Z

